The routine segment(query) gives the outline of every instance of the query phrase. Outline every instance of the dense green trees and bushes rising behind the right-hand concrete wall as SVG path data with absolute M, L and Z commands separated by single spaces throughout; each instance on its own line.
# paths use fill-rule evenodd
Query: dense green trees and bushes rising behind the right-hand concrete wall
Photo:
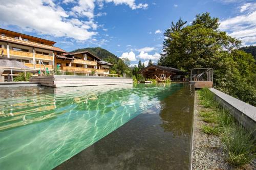
M 256 106 L 255 60 L 238 50 L 240 40 L 220 31 L 219 18 L 199 14 L 191 25 L 181 19 L 164 33 L 159 65 L 182 70 L 214 68 L 215 88 Z

